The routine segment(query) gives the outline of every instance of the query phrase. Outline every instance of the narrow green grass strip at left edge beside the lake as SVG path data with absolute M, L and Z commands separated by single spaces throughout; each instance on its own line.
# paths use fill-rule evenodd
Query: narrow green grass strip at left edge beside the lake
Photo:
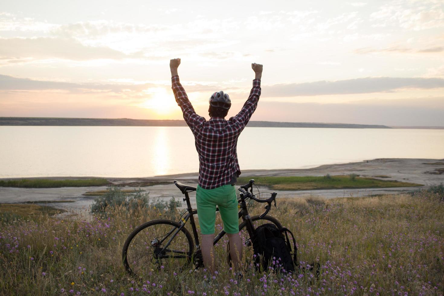
M 103 178 L 79 180 L 50 180 L 50 179 L 20 179 L 0 180 L 0 187 L 19 188 L 60 188 L 60 187 L 89 187 L 104 186 L 109 182 Z

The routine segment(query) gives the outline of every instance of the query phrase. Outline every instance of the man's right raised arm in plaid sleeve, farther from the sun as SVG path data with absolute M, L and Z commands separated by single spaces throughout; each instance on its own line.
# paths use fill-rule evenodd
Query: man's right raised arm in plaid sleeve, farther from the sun
M 238 122 L 242 129 L 250 120 L 251 115 L 253 115 L 254 110 L 256 110 L 256 107 L 258 107 L 258 101 L 261 95 L 262 65 L 252 63 L 251 68 L 254 71 L 254 80 L 253 87 L 250 91 L 250 96 L 248 97 L 241 111 L 236 116 L 230 118 L 232 121 Z

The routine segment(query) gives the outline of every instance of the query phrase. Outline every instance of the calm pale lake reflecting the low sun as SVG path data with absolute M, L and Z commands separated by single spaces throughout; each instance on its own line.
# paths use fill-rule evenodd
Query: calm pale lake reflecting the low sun
M 151 177 L 198 171 L 188 127 L 0 126 L 0 178 Z M 241 170 L 444 158 L 444 130 L 247 127 Z

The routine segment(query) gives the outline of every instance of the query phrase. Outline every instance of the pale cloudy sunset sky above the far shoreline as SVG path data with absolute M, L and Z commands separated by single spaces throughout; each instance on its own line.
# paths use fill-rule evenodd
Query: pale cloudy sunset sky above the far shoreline
M 217 3 L 217 4 L 216 4 Z M 2 1 L 0 116 L 228 116 L 262 63 L 252 120 L 444 126 L 444 1 Z

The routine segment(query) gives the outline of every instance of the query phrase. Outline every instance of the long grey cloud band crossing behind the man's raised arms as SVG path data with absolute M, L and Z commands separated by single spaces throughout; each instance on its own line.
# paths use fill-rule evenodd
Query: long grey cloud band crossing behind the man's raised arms
M 32 90 L 65 90 L 70 92 L 107 91 L 115 93 L 133 92 L 137 94 L 151 87 L 159 87 L 159 83 L 143 84 L 97 84 L 97 83 L 66 83 L 56 81 L 42 81 L 25 78 L 16 78 L 0 75 L 0 90 L 3 91 L 32 91 Z M 169 87 L 169 85 L 165 85 Z M 442 78 L 393 78 L 393 77 L 366 77 L 338 81 L 316 81 L 310 83 L 289 83 L 262 86 L 263 97 L 295 97 L 314 95 L 345 95 L 374 92 L 392 92 L 403 88 L 439 88 L 444 87 Z M 186 91 L 214 91 L 219 89 L 214 84 L 190 83 Z M 230 87 L 231 91 L 239 90 Z M 128 94 L 129 95 L 129 94 Z

